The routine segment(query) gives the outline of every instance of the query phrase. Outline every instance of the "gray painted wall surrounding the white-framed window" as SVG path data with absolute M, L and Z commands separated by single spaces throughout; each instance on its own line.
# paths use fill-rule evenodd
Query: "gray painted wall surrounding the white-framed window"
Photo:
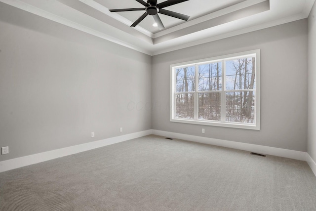
M 153 57 L 153 129 L 307 152 L 307 20 Z M 261 49 L 261 129 L 169 122 L 169 65 Z M 201 133 L 205 128 L 205 133 Z

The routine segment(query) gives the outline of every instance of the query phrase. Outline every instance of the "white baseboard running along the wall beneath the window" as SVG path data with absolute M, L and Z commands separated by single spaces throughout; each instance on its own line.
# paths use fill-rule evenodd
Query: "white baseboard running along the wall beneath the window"
M 265 155 L 274 155 L 274 156 L 283 157 L 283 158 L 291 158 L 291 159 L 300 160 L 300 161 L 306 161 L 306 155 L 308 155 L 307 152 L 281 149 L 281 148 L 276 148 L 276 147 L 268 147 L 268 146 L 255 145 L 255 144 L 247 144 L 247 143 L 241 143 L 241 142 L 236 142 L 236 141 L 227 141 L 227 140 L 221 140 L 221 139 L 215 139 L 215 138 L 207 138 L 207 137 L 201 137 L 201 136 L 195 136 L 195 135 L 186 135 L 186 134 L 181 134 L 181 133 L 167 132 L 167 131 L 161 131 L 161 130 L 155 130 L 155 129 L 153 129 L 153 134 L 165 136 L 169 138 L 177 138 L 177 139 L 182 139 L 182 140 L 187 140 L 187 141 L 194 141 L 198 143 L 212 144 L 216 146 L 245 150 L 245 151 L 255 152 L 255 153 L 260 153 L 260 154 L 265 154 Z

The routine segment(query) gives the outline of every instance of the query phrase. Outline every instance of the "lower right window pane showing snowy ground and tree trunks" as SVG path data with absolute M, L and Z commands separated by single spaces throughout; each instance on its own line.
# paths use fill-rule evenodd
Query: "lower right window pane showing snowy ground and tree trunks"
M 226 121 L 255 123 L 255 95 L 253 91 L 226 93 Z

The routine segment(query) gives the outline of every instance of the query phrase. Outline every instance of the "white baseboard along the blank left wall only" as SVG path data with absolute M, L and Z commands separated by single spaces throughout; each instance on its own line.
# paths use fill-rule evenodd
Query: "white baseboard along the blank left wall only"
M 60 158 L 68 155 L 73 155 L 79 152 L 84 152 L 87 150 L 119 143 L 122 141 L 127 141 L 130 139 L 134 138 L 139 138 L 145 135 L 150 135 L 152 134 L 152 130 L 145 130 L 145 131 L 140 131 L 140 132 L 135 132 L 135 133 L 130 133 L 126 135 L 120 135 L 112 138 L 106 138 L 103 140 L 98 140 L 98 141 L 93 141 L 89 143 L 84 143 L 84 144 L 79 144 L 71 147 L 66 147 L 62 149 L 56 149 L 56 150 L 51 150 L 47 152 L 42 152 L 34 155 L 29 155 L 29 156 L 24 156 L 20 158 L 15 158 L 11 160 L 6 160 L 6 161 L 1 161 L 0 162 L 0 172 L 2 171 L 7 171 L 11 169 L 16 169 L 20 167 L 25 167 L 29 166 L 32 164 L 37 164 L 40 162 L 52 160 L 55 158 Z

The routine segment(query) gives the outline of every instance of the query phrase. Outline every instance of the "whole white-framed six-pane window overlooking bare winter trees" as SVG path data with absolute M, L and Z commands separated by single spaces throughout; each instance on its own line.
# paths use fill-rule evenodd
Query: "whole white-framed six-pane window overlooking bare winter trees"
M 171 122 L 260 129 L 260 50 L 170 70 Z

